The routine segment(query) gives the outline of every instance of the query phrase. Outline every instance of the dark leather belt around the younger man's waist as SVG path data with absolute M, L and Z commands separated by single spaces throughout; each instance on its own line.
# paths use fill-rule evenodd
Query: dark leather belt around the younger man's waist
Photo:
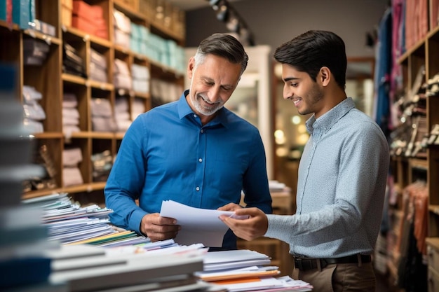
M 327 265 L 335 263 L 358 263 L 358 255 L 344 256 L 342 258 L 301 258 L 293 256 L 295 267 L 301 271 L 312 270 L 318 268 L 318 261 L 320 261 L 320 268 L 323 269 Z M 361 255 L 361 263 L 370 263 L 372 258 L 370 255 Z

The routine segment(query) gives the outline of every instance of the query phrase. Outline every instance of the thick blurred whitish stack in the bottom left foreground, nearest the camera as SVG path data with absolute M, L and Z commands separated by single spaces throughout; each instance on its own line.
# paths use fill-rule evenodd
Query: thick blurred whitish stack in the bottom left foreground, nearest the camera
M 154 253 L 79 244 L 49 256 L 50 280 L 69 283 L 72 292 L 208 291 L 211 286 L 194 276 L 203 269 L 199 249 Z

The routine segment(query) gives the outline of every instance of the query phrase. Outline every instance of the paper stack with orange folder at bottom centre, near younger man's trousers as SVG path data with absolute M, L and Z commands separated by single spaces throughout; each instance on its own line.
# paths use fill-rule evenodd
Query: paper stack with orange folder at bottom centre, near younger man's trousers
M 288 276 L 276 277 L 278 267 L 269 265 L 269 256 L 247 249 L 212 251 L 204 256 L 203 272 L 195 275 L 215 284 L 218 290 L 241 291 L 311 291 L 312 286 Z

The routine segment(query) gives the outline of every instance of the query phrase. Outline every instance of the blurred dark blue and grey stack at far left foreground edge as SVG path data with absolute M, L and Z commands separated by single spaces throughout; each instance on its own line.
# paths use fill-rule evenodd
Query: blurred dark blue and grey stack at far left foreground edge
M 51 259 L 44 252 L 59 244 L 48 242 L 41 210 L 20 204 L 23 181 L 43 169 L 30 164 L 32 139 L 14 92 L 14 68 L 0 64 L 0 291 L 67 291 L 48 281 Z

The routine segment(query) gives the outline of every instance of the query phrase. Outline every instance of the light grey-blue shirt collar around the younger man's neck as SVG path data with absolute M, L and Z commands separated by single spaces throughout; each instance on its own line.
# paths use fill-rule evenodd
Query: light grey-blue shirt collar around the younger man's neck
M 354 108 L 355 102 L 353 102 L 351 97 L 348 97 L 330 109 L 330 111 L 324 113 L 320 118 L 316 119 L 315 115 L 311 116 L 311 118 L 306 120 L 306 130 L 308 130 L 309 134 L 312 134 L 314 129 L 320 129 L 323 132 L 326 132 L 332 127 L 332 125 L 337 123 L 340 118 Z

